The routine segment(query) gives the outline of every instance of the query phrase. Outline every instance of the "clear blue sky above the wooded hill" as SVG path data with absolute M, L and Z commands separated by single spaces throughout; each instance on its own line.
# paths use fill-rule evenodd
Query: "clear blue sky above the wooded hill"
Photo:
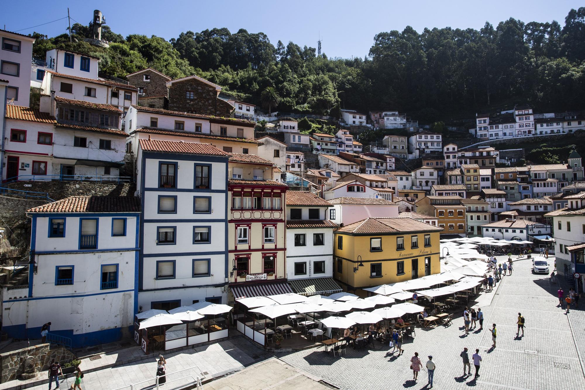
M 329 57 L 363 57 L 378 32 L 402 30 L 410 25 L 418 32 L 433 27 L 481 28 L 486 20 L 497 25 L 510 17 L 524 22 L 557 20 L 565 25 L 571 8 L 583 2 L 563 1 L 124 1 L 99 2 L 5 0 L 0 27 L 49 36 L 66 32 L 67 19 L 26 29 L 67 16 L 86 24 L 95 8 L 104 14 L 116 33 L 157 35 L 165 39 L 192 30 L 226 27 L 235 33 L 264 32 L 274 45 L 282 40 L 316 47 L 319 33 L 323 52 Z M 72 22 L 73 23 L 73 22 Z

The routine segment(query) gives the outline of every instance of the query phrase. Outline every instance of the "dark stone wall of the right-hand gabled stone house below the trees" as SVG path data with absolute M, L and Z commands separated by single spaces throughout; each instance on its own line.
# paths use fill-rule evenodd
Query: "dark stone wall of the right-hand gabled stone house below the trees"
M 187 98 L 187 91 L 194 93 L 192 99 Z M 177 81 L 168 91 L 168 110 L 171 111 L 229 117 L 233 109 L 231 104 L 217 97 L 217 91 L 213 85 L 199 81 L 197 78 Z

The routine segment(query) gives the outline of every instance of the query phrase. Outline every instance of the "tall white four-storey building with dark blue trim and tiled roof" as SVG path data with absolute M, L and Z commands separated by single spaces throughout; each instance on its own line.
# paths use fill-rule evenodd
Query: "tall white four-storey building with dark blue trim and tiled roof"
M 139 140 L 139 306 L 226 302 L 228 158 L 204 143 Z

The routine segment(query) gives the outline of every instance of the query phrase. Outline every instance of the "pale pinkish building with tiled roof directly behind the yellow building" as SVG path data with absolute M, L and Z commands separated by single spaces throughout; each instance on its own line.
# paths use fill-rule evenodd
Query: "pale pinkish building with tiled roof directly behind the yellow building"
M 333 204 L 329 209 L 329 220 L 338 225 L 349 225 L 370 217 L 398 217 L 398 204 L 386 199 L 343 196 L 328 201 Z

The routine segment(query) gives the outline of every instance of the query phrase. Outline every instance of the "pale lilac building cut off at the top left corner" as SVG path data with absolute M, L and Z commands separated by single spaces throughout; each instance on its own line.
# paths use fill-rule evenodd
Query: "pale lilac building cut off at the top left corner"
M 8 81 L 6 98 L 10 104 L 29 107 L 30 62 L 33 57 L 35 38 L 0 30 L 0 39 L 2 40 L 0 78 Z

